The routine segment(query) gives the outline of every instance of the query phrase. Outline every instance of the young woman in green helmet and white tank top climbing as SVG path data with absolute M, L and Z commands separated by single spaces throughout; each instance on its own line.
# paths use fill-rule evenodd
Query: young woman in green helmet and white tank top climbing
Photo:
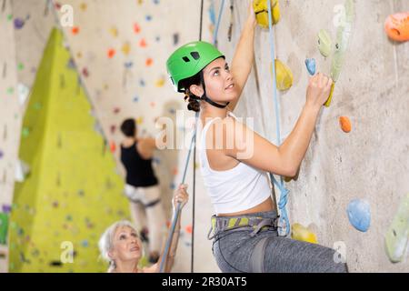
M 216 214 L 214 258 L 223 272 L 346 272 L 346 264 L 335 262 L 334 249 L 278 236 L 264 175 L 296 175 L 333 82 L 323 74 L 310 80 L 304 108 L 282 146 L 239 123 L 232 111 L 254 63 L 255 27 L 250 5 L 231 69 L 224 55 L 205 42 L 183 45 L 166 63 L 188 109 L 200 111 L 201 171 Z

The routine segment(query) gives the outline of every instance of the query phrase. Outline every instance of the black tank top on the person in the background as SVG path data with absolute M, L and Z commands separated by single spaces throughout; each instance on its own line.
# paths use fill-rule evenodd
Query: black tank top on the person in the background
M 152 159 L 145 160 L 136 150 L 136 142 L 131 147 L 121 145 L 121 162 L 126 169 L 126 184 L 135 187 L 155 186 L 157 178 L 152 168 Z

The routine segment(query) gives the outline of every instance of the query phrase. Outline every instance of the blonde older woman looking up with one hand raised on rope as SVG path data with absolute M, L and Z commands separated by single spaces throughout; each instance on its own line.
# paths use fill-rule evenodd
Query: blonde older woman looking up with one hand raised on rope
M 181 185 L 175 191 L 173 199 L 174 211 L 178 203 L 181 204 L 181 209 L 187 203 L 188 195 L 186 188 L 186 185 Z M 172 239 L 165 272 L 169 272 L 173 266 L 179 232 L 180 216 L 176 223 L 175 235 Z M 101 256 L 109 262 L 109 273 L 155 273 L 159 271 L 158 263 L 144 268 L 138 266 L 139 260 L 143 256 L 143 247 L 141 239 L 137 234 L 135 227 L 126 220 L 118 221 L 105 230 L 105 233 L 99 240 L 99 249 Z M 160 261 L 161 259 L 159 259 Z

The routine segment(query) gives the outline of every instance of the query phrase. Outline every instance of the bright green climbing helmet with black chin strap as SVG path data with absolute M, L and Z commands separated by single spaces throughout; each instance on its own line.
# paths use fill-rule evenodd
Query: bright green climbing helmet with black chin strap
M 166 62 L 167 72 L 177 92 L 185 92 L 180 84 L 202 71 L 216 58 L 224 57 L 220 51 L 206 42 L 197 41 L 179 47 Z

